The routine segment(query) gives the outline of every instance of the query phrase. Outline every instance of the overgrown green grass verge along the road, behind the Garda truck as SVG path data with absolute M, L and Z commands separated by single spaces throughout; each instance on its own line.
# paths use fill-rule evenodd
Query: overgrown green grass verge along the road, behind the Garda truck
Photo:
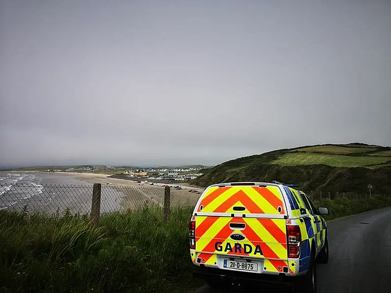
M 316 201 L 327 220 L 391 206 L 390 198 Z M 163 222 L 160 208 L 145 206 L 101 217 L 43 219 L 0 212 L 1 292 L 186 292 L 202 284 L 188 251 L 192 207 L 175 208 Z

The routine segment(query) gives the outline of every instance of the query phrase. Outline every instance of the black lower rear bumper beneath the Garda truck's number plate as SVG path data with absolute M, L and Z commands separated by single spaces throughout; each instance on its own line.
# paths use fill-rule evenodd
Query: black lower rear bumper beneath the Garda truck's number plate
M 201 266 L 200 269 L 193 272 L 193 277 L 202 279 L 204 281 L 218 279 L 227 283 L 267 283 L 272 285 L 285 285 L 292 288 L 296 279 L 294 277 L 287 277 L 283 273 L 279 275 L 267 275 L 250 272 L 238 272 L 225 269 L 223 270 L 219 268 L 210 268 L 205 266 Z

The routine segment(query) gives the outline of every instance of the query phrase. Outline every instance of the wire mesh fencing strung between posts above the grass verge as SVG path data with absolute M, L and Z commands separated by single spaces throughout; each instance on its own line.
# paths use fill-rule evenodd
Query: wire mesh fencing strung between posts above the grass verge
M 111 186 L 100 188 L 100 213 L 136 211 L 164 206 L 164 186 Z M 1 184 L 0 210 L 39 213 L 48 217 L 87 215 L 91 211 L 93 185 Z M 170 207 L 194 206 L 203 189 L 170 186 Z

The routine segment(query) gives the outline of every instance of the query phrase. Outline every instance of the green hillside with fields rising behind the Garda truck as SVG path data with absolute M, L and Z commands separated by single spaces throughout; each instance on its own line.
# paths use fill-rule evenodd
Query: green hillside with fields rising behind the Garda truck
M 361 143 L 279 149 L 231 160 L 193 180 L 208 186 L 230 181 L 296 183 L 304 191 L 373 192 L 391 195 L 391 147 Z

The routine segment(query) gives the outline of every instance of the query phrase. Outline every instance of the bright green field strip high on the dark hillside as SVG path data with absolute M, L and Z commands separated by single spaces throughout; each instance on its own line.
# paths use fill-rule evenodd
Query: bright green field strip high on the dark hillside
M 379 164 L 387 159 L 377 156 L 344 156 L 334 154 L 318 153 L 286 153 L 278 159 L 271 161 L 271 164 L 281 166 L 293 165 L 317 165 L 324 164 L 334 167 L 365 167 L 367 165 Z

